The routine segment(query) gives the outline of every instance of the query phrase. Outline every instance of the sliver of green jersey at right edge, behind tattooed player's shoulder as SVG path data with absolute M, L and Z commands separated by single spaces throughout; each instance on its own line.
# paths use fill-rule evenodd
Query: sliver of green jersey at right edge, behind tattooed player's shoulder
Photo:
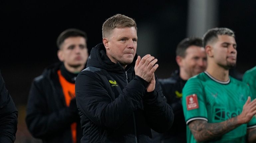
M 247 70 L 243 75 L 243 82 L 249 85 L 251 92 L 252 92 L 252 98 L 256 98 L 256 66 L 252 69 Z

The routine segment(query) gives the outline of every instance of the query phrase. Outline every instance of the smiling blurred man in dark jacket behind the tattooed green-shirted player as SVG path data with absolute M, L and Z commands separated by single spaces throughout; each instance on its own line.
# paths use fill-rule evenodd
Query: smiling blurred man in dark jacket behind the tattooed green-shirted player
M 189 78 L 206 69 L 206 53 L 201 38 L 183 39 L 176 48 L 175 70 L 170 78 L 159 79 L 167 103 L 172 107 L 174 122 L 171 129 L 163 134 L 153 131 L 154 143 L 186 143 L 186 122 L 182 109 L 182 89 Z

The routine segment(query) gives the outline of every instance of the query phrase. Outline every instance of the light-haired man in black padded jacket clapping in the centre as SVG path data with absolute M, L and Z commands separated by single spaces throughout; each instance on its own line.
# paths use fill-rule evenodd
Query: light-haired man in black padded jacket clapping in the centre
M 157 59 L 136 55 L 132 18 L 108 18 L 102 34 L 75 82 L 81 143 L 152 143 L 151 128 L 165 132 L 174 118 L 154 74 Z

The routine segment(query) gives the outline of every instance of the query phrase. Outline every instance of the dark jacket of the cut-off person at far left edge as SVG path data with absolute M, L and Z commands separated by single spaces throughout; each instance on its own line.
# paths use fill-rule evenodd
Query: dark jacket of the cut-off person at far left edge
M 0 143 L 13 143 L 18 124 L 18 110 L 5 88 L 0 72 Z

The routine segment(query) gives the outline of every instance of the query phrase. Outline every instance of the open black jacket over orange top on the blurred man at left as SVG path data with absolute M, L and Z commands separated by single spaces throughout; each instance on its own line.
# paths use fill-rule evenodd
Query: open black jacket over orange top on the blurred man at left
M 77 123 L 77 143 L 82 136 L 76 105 L 71 106 L 70 102 L 66 107 L 57 73 L 62 65 L 57 63 L 44 70 L 34 79 L 29 92 L 26 124 L 30 133 L 43 143 L 72 143 L 70 125 L 73 122 Z

